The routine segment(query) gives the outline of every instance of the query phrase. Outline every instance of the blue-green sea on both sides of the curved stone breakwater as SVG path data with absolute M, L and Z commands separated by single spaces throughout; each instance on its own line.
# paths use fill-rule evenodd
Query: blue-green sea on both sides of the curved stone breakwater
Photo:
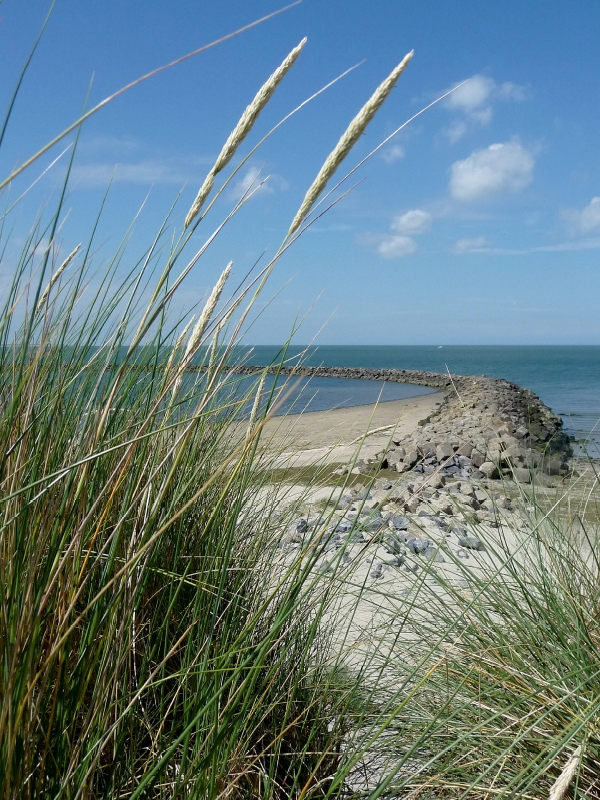
M 530 389 L 562 417 L 575 450 L 600 458 L 600 347 L 488 345 L 278 345 L 242 347 L 237 357 L 246 364 L 266 365 L 285 357 L 308 366 L 415 369 L 504 378 Z M 311 378 L 282 410 L 317 411 L 397 400 L 426 394 L 422 386 L 376 381 Z M 431 391 L 431 390 L 429 390 Z

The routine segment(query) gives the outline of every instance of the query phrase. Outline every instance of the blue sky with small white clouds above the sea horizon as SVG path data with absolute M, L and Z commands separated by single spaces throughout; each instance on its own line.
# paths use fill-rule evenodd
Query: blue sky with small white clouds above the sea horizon
M 57 0 L 0 149 L 0 176 L 77 119 L 88 91 L 91 106 L 283 5 Z M 42 0 L 0 4 L 2 116 L 48 8 Z M 112 177 L 95 258 L 102 271 L 135 217 L 125 271 L 176 198 L 168 230 L 181 230 L 242 111 L 303 37 L 300 57 L 217 186 L 282 117 L 358 65 L 285 122 L 203 220 L 198 248 L 244 190 L 266 178 L 183 284 L 185 314 L 228 261 L 233 282 L 277 251 L 350 120 L 414 49 L 340 178 L 466 82 L 333 195 L 339 202 L 279 261 L 246 341 L 279 343 L 299 324 L 297 343 L 600 344 L 599 34 L 597 0 L 302 0 L 88 120 L 60 246 L 69 252 L 89 235 Z M 11 217 L 5 285 L 33 216 L 56 197 L 70 151 L 44 170 L 72 138 L 11 187 L 17 197 L 41 175 Z

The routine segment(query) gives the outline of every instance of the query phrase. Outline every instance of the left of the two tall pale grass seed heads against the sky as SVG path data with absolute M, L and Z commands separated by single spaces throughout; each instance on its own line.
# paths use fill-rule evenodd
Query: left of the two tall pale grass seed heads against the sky
M 244 141 L 246 136 L 252 130 L 252 127 L 256 122 L 258 115 L 266 106 L 266 104 L 269 102 L 269 100 L 273 95 L 273 92 L 279 86 L 279 84 L 285 77 L 286 73 L 293 66 L 294 62 L 300 55 L 300 52 L 305 44 L 306 44 L 306 37 L 300 42 L 300 44 L 297 47 L 294 47 L 291 53 L 284 59 L 282 64 L 275 70 L 275 72 L 270 76 L 270 78 L 268 78 L 268 80 L 265 81 L 265 83 L 261 86 L 261 88 L 256 93 L 254 100 L 250 103 L 249 106 L 247 106 L 246 110 L 240 117 L 238 124 L 229 134 L 227 141 L 221 148 L 221 152 L 219 153 L 213 168 L 208 173 L 208 175 L 204 179 L 204 183 L 200 187 L 200 190 L 196 195 L 196 199 L 192 203 L 192 207 L 190 208 L 188 215 L 185 218 L 186 228 L 200 213 L 200 210 L 202 209 L 202 206 L 204 205 L 206 198 L 208 197 L 208 195 L 212 190 L 215 175 L 221 172 L 221 170 L 224 169 L 227 166 L 227 164 L 229 164 L 229 162 L 235 155 L 235 151 L 238 149 L 240 144 Z

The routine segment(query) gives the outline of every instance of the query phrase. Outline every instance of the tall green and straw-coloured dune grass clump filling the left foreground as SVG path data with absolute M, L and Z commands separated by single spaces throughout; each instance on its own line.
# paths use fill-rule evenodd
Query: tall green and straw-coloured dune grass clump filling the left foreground
M 139 258 L 124 240 L 99 271 L 95 226 L 61 260 L 73 147 L 13 269 L 0 312 L 7 799 L 341 791 L 356 682 L 332 654 L 318 555 L 273 566 L 285 518 L 258 445 L 276 396 L 253 404 L 264 383 L 240 395 L 228 370 L 285 247 L 225 299 L 227 265 L 197 321 L 173 312 L 248 198 L 190 254 L 212 179 L 302 45 L 242 117 L 179 237 L 168 242 L 169 217 Z

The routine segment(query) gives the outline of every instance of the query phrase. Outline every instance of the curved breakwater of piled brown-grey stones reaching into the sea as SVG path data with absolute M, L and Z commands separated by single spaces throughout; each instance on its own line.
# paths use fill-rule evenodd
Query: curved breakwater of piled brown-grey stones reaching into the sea
M 235 367 L 240 374 L 264 367 Z M 565 477 L 573 455 L 562 420 L 537 395 L 498 378 L 437 372 L 349 367 L 268 368 L 270 373 L 306 377 L 352 378 L 430 386 L 444 400 L 417 431 L 392 437 L 390 447 L 359 472 L 392 469 L 399 473 L 441 474 L 446 477 L 494 480 L 513 477 L 528 483 L 535 475 Z

